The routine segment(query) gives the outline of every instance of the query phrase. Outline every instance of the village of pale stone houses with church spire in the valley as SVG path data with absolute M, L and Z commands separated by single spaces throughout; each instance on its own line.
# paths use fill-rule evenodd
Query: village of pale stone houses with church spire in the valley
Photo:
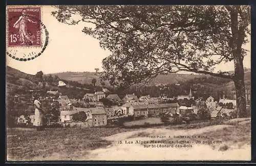
M 59 86 L 67 86 L 59 81 Z M 195 99 L 190 89 L 188 95 L 178 95 L 173 98 L 140 96 L 126 94 L 123 99 L 117 94 L 106 96 L 106 89 L 95 93 L 87 93 L 82 99 L 71 99 L 58 91 L 47 91 L 46 96 L 40 96 L 40 100 L 48 100 L 59 104 L 57 123 L 63 127 L 96 127 L 106 126 L 118 121 L 120 118 L 132 117 L 132 120 L 140 120 L 151 117 L 174 117 L 175 115 L 186 117 L 198 116 L 199 109 L 207 109 L 210 118 L 236 117 L 236 100 L 227 99 L 225 95 L 217 102 L 212 96 Z M 250 92 L 246 91 L 246 100 L 250 101 Z M 56 95 L 58 96 L 56 98 Z M 18 96 L 16 96 L 18 101 Z M 105 101 L 110 101 L 111 104 Z M 248 104 L 249 108 L 250 105 Z M 82 114 L 80 114 L 82 113 Z M 84 115 L 84 116 L 83 116 Z M 78 118 L 74 118 L 77 117 Z M 84 117 L 84 118 L 82 118 Z M 191 119 L 190 119 L 191 120 Z M 16 117 L 17 124 L 28 125 L 33 123 L 34 114 L 20 115 Z

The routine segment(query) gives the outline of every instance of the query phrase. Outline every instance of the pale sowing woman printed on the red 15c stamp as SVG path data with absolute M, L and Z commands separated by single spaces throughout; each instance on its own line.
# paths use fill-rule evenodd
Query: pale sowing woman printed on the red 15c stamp
M 27 23 L 32 22 L 36 23 L 36 21 L 32 21 L 29 16 L 27 15 L 26 10 L 22 11 L 22 15 L 18 18 L 18 20 L 13 24 L 13 27 L 19 29 L 19 41 L 22 42 L 21 44 L 26 43 L 33 43 L 35 36 L 28 32 Z

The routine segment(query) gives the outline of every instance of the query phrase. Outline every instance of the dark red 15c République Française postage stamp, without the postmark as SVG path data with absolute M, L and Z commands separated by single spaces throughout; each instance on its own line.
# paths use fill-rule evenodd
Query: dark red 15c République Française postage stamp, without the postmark
M 7 8 L 8 46 L 41 46 L 40 7 Z

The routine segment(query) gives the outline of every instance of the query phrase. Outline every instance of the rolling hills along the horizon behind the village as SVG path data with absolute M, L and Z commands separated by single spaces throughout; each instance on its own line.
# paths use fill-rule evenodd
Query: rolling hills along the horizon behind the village
M 70 84 L 70 88 L 59 88 L 57 87 L 57 81 L 53 82 L 52 86 L 49 88 L 52 90 L 59 90 L 61 93 L 66 95 L 83 96 L 85 93 L 88 93 L 86 89 L 92 90 L 93 87 L 91 85 L 91 81 L 93 78 L 96 78 L 96 86 L 100 89 L 100 78 L 98 74 L 95 72 L 62 72 L 62 73 L 54 73 L 51 74 L 55 77 L 55 75 L 59 78 L 59 80 L 63 80 L 66 83 Z M 50 76 L 50 74 L 46 74 L 44 76 Z M 46 78 L 45 77 L 45 78 Z M 26 74 L 19 70 L 13 69 L 11 67 L 7 67 L 7 90 L 13 89 L 24 89 L 24 88 L 36 88 L 38 85 L 35 84 L 34 75 Z M 106 87 L 108 86 L 108 82 L 105 81 Z M 175 84 L 179 84 L 180 86 L 176 86 Z M 169 91 L 169 95 L 180 95 L 189 93 L 189 89 L 192 88 L 194 93 L 196 91 L 201 95 L 201 93 L 205 92 L 216 92 L 216 91 L 232 91 L 234 90 L 233 81 L 213 77 L 210 75 L 198 75 L 198 74 L 177 74 L 177 73 L 169 73 L 167 75 L 158 75 L 156 78 L 152 79 L 147 86 L 161 86 L 161 85 L 169 85 L 173 90 Z M 196 86 L 195 86 L 196 85 Z M 199 85 L 199 86 L 198 86 Z M 245 85 L 246 89 L 250 89 L 251 86 L 251 72 L 249 70 L 245 71 Z M 139 86 L 141 87 L 141 86 Z M 142 85 L 143 87 L 143 85 Z M 132 87 L 131 87 L 132 88 Z M 84 90 L 80 90 L 84 89 Z M 132 88 L 134 89 L 134 88 Z M 159 95 L 157 89 L 142 89 L 140 91 L 144 91 L 142 94 L 148 94 L 151 91 L 151 94 Z M 93 91 L 92 91 L 93 92 Z M 91 92 L 90 92 L 91 93 Z M 136 91 L 125 91 L 124 93 L 136 93 Z M 159 92 L 160 93 L 160 92 Z M 141 95 L 142 95 L 141 94 Z

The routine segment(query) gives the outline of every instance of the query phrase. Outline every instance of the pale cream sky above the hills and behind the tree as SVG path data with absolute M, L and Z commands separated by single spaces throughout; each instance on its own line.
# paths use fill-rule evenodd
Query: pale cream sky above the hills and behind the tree
M 82 33 L 86 23 L 68 25 L 60 23 L 51 15 L 55 9 L 51 6 L 43 6 L 41 20 L 49 32 L 49 44 L 41 56 L 34 60 L 23 62 L 7 56 L 8 66 L 28 74 L 36 74 L 42 71 L 45 74 L 58 72 L 94 72 L 95 68 L 102 71 L 102 60 L 111 54 L 99 46 L 97 39 Z M 245 45 L 250 50 L 250 42 Z M 244 58 L 244 67 L 250 68 L 250 52 Z M 215 71 L 232 71 L 233 62 L 220 64 Z

